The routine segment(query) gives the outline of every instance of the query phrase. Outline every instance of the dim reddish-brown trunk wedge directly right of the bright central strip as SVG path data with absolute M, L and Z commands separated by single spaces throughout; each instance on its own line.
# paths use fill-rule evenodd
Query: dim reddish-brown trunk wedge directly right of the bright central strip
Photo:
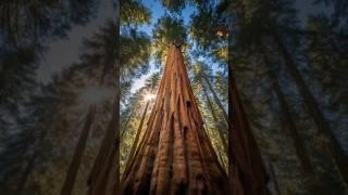
M 228 133 L 229 187 L 232 194 L 236 195 L 268 195 L 270 194 L 266 187 L 269 176 L 239 100 L 231 64 L 228 77 L 228 112 L 232 116 L 232 122 L 228 122 L 231 129 Z

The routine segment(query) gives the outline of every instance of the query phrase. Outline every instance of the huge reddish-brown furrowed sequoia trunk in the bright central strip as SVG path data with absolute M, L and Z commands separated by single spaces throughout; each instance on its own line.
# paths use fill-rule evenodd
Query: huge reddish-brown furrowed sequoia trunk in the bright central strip
M 156 105 L 129 158 L 121 194 L 228 194 L 203 129 L 181 49 L 170 47 Z

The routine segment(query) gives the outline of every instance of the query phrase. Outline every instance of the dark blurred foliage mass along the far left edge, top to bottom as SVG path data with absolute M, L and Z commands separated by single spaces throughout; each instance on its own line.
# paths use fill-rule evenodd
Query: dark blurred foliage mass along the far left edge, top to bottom
M 59 116 L 51 114 L 62 100 L 50 84 L 42 87 L 36 80 L 47 42 L 64 38 L 72 25 L 86 24 L 96 1 L 1 1 L 0 8 L 0 161 L 7 167 L 0 171 L 2 193 L 18 187 L 42 136 Z

